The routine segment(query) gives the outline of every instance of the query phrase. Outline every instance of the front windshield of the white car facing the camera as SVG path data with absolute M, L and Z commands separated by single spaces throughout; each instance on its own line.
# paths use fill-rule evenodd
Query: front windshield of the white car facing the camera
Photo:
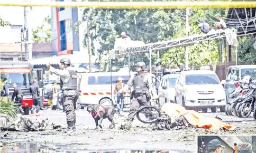
M 186 85 L 191 84 L 220 84 L 216 74 L 186 75 Z

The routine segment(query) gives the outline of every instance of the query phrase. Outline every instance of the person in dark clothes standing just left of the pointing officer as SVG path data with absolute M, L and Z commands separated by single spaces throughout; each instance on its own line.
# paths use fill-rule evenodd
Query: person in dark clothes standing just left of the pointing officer
M 39 97 L 39 85 L 38 81 L 36 79 L 33 80 L 33 84 L 30 85 L 30 93 L 32 93 L 32 98 L 33 98 L 33 106 L 31 109 L 31 114 L 36 113 L 36 116 L 39 116 L 39 111 L 40 111 L 40 97 Z

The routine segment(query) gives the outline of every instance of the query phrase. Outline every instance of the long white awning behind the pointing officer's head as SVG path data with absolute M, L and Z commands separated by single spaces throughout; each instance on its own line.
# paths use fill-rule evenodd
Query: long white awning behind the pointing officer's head
M 61 55 L 61 56 L 51 56 L 47 58 L 39 58 L 39 59 L 32 59 L 29 62 L 32 65 L 44 65 L 44 64 L 60 64 L 60 60 L 62 58 L 69 58 L 71 64 L 81 64 L 81 63 L 89 63 L 88 56 L 83 55 Z M 95 63 L 96 57 L 92 57 L 92 63 Z

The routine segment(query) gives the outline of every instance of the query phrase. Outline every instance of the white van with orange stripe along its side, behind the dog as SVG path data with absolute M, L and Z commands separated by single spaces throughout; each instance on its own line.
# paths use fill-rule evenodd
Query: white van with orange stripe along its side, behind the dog
M 133 76 L 136 72 L 131 72 L 131 76 Z M 110 72 L 99 72 L 99 73 L 83 73 L 79 76 L 78 81 L 78 91 L 79 98 L 78 103 L 82 106 L 86 106 L 88 104 L 99 104 L 103 105 L 112 105 L 116 104 L 115 100 L 112 100 L 113 103 L 109 103 L 106 99 L 111 99 L 114 96 L 115 84 L 118 82 L 117 79 L 122 77 L 123 83 L 126 84 L 130 79 L 129 72 L 112 72 L 112 95 L 111 95 L 111 73 Z M 133 88 L 131 89 L 131 92 Z M 130 102 L 130 91 L 125 93 L 125 101 L 124 103 Z

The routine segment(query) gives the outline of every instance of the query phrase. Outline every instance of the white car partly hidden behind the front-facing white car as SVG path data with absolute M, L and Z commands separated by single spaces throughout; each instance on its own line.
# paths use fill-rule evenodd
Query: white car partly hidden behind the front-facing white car
M 175 84 L 180 73 L 163 75 L 158 88 L 158 100 L 160 106 L 164 103 L 174 102 L 175 97 Z

